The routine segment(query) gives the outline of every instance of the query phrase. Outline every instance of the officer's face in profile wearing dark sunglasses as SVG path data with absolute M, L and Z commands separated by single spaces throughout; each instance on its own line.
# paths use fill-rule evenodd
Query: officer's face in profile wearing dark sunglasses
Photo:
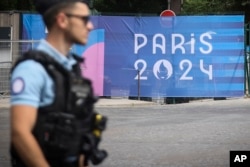
M 94 28 L 89 20 L 89 9 L 84 3 L 76 3 L 75 7 L 64 13 L 68 19 L 65 29 L 66 40 L 70 43 L 86 44 L 89 32 Z

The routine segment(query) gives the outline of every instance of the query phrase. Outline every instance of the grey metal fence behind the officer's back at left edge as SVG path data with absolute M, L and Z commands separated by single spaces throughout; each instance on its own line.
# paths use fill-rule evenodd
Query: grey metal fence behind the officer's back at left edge
M 0 98 L 10 95 L 10 69 L 15 60 L 28 49 L 36 46 L 38 41 L 0 41 Z

